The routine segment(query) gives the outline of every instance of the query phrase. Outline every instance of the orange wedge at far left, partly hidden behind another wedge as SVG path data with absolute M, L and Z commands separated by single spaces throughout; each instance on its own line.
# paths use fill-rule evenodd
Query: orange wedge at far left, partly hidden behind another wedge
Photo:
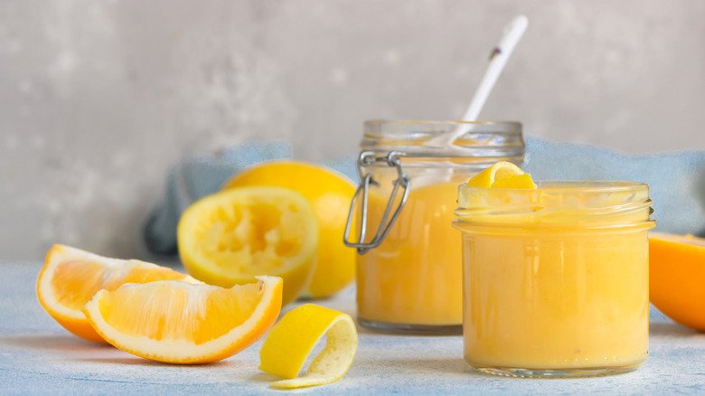
M 124 283 L 185 280 L 186 274 L 136 259 L 109 259 L 85 250 L 54 245 L 37 278 L 37 298 L 60 325 L 89 341 L 105 343 L 80 311 L 99 290 Z

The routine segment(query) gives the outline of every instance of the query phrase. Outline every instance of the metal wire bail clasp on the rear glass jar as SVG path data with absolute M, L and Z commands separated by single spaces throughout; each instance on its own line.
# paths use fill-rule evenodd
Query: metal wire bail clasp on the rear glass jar
M 360 179 L 362 183 L 355 191 L 353 195 L 353 201 L 350 203 L 350 212 L 348 212 L 348 221 L 345 223 L 345 235 L 343 236 L 343 243 L 349 248 L 357 248 L 359 254 L 365 254 L 369 250 L 376 248 L 381 245 L 381 242 L 390 233 L 391 226 L 397 221 L 401 208 L 407 203 L 407 198 L 409 198 L 409 188 L 411 184 L 411 178 L 409 174 L 405 174 L 401 170 L 401 159 L 400 157 L 405 156 L 404 153 L 399 151 L 392 151 L 387 156 L 375 156 L 371 151 L 365 151 L 360 154 L 357 160 L 357 170 L 360 174 Z M 365 236 L 367 234 L 367 208 L 368 208 L 368 198 L 370 193 L 370 184 L 380 185 L 374 179 L 372 179 L 371 174 L 362 174 L 362 166 L 372 165 L 374 163 L 384 162 L 389 166 L 394 166 L 397 168 L 397 179 L 393 182 L 394 187 L 391 190 L 390 200 L 387 202 L 387 207 L 384 209 L 384 214 L 381 217 L 380 227 L 374 234 L 369 242 L 365 242 Z M 403 195 L 401 196 L 401 201 L 397 208 L 392 212 L 392 206 L 394 206 L 394 200 L 397 194 L 403 189 Z M 362 193 L 362 210 L 360 213 L 360 233 L 358 235 L 358 240 L 356 242 L 350 241 L 350 232 L 353 226 L 353 214 L 355 212 L 355 207 L 357 206 L 357 201 Z M 388 222 L 389 219 L 389 222 Z

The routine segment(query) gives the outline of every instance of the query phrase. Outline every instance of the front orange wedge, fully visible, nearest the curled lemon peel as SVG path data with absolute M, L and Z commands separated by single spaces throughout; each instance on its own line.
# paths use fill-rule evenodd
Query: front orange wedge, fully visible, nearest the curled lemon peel
M 164 363 L 216 362 L 256 342 L 281 309 L 282 281 L 220 288 L 176 280 L 101 290 L 83 312 L 119 349 Z

